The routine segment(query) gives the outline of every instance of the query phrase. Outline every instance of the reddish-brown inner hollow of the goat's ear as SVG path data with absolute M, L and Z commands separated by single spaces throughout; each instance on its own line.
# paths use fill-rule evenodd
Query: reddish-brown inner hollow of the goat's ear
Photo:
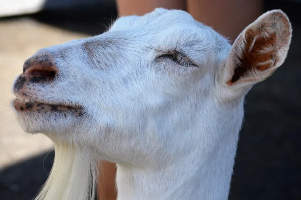
M 228 84 L 232 84 L 248 71 L 264 71 L 274 65 L 277 61 L 275 55 L 276 33 L 269 34 L 268 37 L 262 36 L 264 27 L 258 30 L 248 30 L 245 33 L 246 43 L 239 57 L 239 66 L 235 67 L 234 75 Z

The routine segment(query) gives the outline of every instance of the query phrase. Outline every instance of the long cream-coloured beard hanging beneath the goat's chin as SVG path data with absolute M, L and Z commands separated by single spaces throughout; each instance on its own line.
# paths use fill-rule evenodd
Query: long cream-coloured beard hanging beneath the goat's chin
M 54 142 L 55 158 L 50 175 L 35 200 L 95 197 L 98 162 L 82 146 Z

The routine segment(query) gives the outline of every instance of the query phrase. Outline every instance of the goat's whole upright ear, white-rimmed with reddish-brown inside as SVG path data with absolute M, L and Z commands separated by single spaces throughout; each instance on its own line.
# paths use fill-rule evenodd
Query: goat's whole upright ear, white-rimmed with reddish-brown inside
M 269 77 L 286 58 L 291 32 L 290 22 L 282 11 L 260 16 L 235 40 L 224 68 L 224 83 L 237 88 Z

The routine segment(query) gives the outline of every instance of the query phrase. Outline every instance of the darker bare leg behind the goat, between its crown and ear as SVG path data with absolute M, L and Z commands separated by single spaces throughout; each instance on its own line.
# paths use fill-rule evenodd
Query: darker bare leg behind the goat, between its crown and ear
M 235 40 L 262 14 L 262 0 L 187 0 L 187 11 L 199 22 Z

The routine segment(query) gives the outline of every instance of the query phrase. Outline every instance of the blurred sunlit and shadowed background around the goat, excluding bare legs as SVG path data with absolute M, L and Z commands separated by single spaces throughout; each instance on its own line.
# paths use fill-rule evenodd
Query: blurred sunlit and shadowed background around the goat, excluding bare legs
M 292 42 L 285 63 L 246 97 L 230 200 L 301 199 L 301 1 L 263 1 L 271 9 L 288 15 Z M 117 15 L 113 0 L 0 0 L 1 200 L 32 199 L 54 158 L 52 142 L 24 133 L 9 106 L 23 62 L 40 48 L 101 34 Z

